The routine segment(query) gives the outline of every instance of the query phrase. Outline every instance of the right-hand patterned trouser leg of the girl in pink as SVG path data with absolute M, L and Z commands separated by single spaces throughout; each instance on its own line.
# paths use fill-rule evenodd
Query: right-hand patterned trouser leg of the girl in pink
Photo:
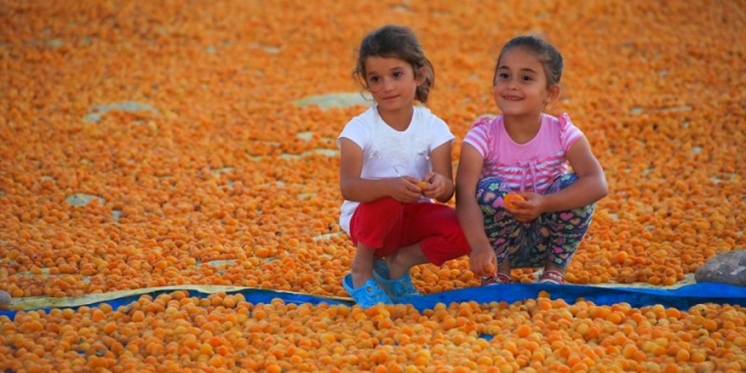
M 578 180 L 575 174 L 558 177 L 547 190 L 547 194 L 557 193 Z M 568 264 L 576 249 L 588 232 L 593 218 L 595 204 L 572 210 L 546 214 L 542 232 L 546 234 L 547 261 L 544 273 L 557 272 L 565 276 Z

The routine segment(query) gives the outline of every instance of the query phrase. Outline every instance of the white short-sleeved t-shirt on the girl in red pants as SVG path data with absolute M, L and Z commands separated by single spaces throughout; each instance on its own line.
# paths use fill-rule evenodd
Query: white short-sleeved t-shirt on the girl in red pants
M 376 106 L 352 118 L 336 140 L 347 138 L 363 149 L 361 177 L 380 179 L 412 176 L 422 179 L 432 169 L 430 153 L 455 138 L 445 121 L 430 109 L 415 106 L 410 126 L 397 131 L 386 125 Z M 422 197 L 421 202 L 431 202 Z M 350 220 L 360 203 L 345 200 L 342 204 L 340 226 L 350 233 Z

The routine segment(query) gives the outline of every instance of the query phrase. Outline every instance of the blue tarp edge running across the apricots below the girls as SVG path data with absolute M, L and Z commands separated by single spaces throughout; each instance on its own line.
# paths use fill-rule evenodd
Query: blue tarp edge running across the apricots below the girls
M 453 302 L 490 303 L 508 302 L 513 303 L 528 298 L 536 298 L 541 291 L 547 291 L 551 298 L 562 298 L 567 303 L 575 303 L 579 298 L 593 302 L 598 305 L 612 305 L 618 303 L 628 303 L 632 307 L 642 307 L 660 304 L 666 307 L 678 310 L 688 310 L 689 307 L 703 304 L 729 304 L 746 306 L 746 287 L 739 287 L 718 283 L 699 283 L 685 285 L 675 289 L 647 288 L 647 287 L 605 287 L 587 285 L 552 285 L 552 284 L 509 284 L 492 285 L 487 287 L 468 287 L 454 291 L 448 291 L 436 294 L 428 294 L 418 297 L 403 300 L 403 303 L 412 304 L 419 311 L 433 308 L 438 303 L 450 304 Z M 153 297 L 164 293 L 171 293 L 174 289 L 154 291 L 146 293 Z M 189 296 L 206 297 L 208 293 L 198 291 L 188 291 Z M 277 292 L 271 289 L 246 288 L 228 294 L 241 293 L 247 302 L 253 304 L 271 303 L 274 298 L 281 298 L 285 303 L 295 304 L 346 304 L 353 305 L 353 302 L 346 298 L 323 297 L 301 293 Z M 86 304 L 95 307 L 101 303 L 108 303 L 114 308 L 120 305 L 127 305 L 136 302 L 144 294 L 119 297 L 104 302 Z M 77 307 L 72 307 L 77 308 Z M 46 310 L 49 311 L 49 310 Z M 13 317 L 16 311 L 0 311 L 0 315 Z

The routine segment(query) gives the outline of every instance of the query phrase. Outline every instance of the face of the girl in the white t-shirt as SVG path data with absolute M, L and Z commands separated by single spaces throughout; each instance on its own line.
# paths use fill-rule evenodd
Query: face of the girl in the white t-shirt
M 399 58 L 365 59 L 365 84 L 379 105 L 379 110 L 397 111 L 411 108 L 418 86 L 423 79 L 415 77 L 412 66 Z

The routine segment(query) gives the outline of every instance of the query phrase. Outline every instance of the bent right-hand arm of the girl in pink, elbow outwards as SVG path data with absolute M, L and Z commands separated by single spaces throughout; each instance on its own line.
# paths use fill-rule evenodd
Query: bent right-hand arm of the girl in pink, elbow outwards
M 608 194 L 606 175 L 590 149 L 586 137 L 578 139 L 567 154 L 578 180 L 571 186 L 543 196 L 543 213 L 553 213 L 588 206 Z

